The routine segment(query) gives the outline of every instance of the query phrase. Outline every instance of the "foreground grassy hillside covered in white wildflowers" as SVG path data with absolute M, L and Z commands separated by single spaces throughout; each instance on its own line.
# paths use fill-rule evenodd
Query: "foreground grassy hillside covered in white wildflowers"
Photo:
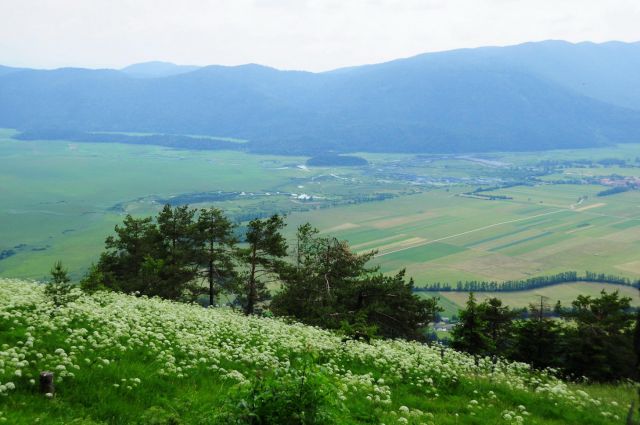
M 518 415 L 526 424 L 613 424 L 633 394 L 566 385 L 521 364 L 500 362 L 492 373 L 490 362 L 476 366 L 451 350 L 441 358 L 415 343 L 344 343 L 316 328 L 156 299 L 83 295 L 54 311 L 41 286 L 13 280 L 0 280 L 0 344 L 0 418 L 11 424 L 216 423 L 256 376 L 291 376 L 301 358 L 314 358 L 310 367 L 333 388 L 326 413 L 341 424 L 511 424 Z M 52 399 L 30 383 L 42 370 L 56 371 Z

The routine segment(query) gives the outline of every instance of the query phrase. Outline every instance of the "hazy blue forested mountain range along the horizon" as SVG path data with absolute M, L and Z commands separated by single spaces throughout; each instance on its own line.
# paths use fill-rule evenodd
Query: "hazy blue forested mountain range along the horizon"
M 640 43 L 428 53 L 311 73 L 260 65 L 0 67 L 0 127 L 247 139 L 242 149 L 486 152 L 640 142 Z M 238 148 L 237 144 L 234 146 Z

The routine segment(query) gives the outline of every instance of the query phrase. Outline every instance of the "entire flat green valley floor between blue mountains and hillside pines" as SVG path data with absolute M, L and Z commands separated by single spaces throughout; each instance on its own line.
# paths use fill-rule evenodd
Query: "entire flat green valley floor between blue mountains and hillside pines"
M 13 134 L 0 133 L 2 276 L 39 279 L 62 259 L 78 278 L 124 214 L 151 214 L 172 199 L 216 205 L 242 219 L 288 213 L 290 237 L 309 221 L 358 251 L 377 249 L 374 261 L 384 272 L 406 268 L 418 285 L 567 270 L 640 276 L 640 191 L 597 197 L 604 186 L 545 183 L 571 168 L 543 175 L 536 165 L 635 158 L 640 145 L 485 159 L 360 154 L 369 166 L 307 168 L 304 157 L 25 142 Z M 634 167 L 623 170 L 640 170 Z M 620 167 L 586 170 L 609 175 Z M 483 192 L 511 199 L 463 195 L 522 179 L 529 185 Z M 218 191 L 235 195 L 216 199 Z

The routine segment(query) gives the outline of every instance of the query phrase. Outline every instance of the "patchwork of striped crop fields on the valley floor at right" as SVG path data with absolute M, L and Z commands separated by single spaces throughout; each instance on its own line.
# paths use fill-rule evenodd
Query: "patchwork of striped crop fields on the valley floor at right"
M 512 199 L 489 201 L 460 196 L 466 190 L 294 214 L 291 221 L 315 223 L 358 250 L 378 250 L 383 271 L 406 268 L 418 285 L 567 270 L 640 276 L 638 192 L 598 198 L 599 186 L 518 186 L 489 192 Z

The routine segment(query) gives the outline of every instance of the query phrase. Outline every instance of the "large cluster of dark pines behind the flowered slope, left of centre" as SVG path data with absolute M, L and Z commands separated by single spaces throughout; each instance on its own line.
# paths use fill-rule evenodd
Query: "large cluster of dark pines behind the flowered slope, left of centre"
M 166 205 L 156 217 L 127 216 L 81 281 L 87 291 L 111 289 L 213 305 L 224 294 L 254 314 L 280 285 L 271 311 L 352 335 L 421 339 L 441 311 L 416 296 L 404 272 L 384 276 L 347 242 L 305 224 L 290 249 L 281 216 L 233 224 L 216 208 Z

